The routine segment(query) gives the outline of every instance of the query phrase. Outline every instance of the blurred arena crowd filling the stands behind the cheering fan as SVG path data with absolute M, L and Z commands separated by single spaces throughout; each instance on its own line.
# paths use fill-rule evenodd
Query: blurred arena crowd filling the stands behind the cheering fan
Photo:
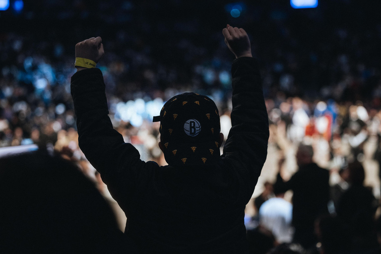
M 287 157 L 290 147 L 311 144 L 315 161 L 330 170 L 332 186 L 342 184 L 341 170 L 349 162 L 362 162 L 366 172 L 373 165 L 377 172 L 377 8 L 358 0 L 319 2 L 308 10 L 280 0 L 240 2 L 241 16 L 233 18 L 228 3 L 46 0 L 25 4 L 17 15 L 1 13 L 0 21 L 12 26 L 0 31 L 0 147 L 55 149 L 99 181 L 78 147 L 70 96 L 74 45 L 92 36 L 103 38 L 105 57 L 97 67 L 104 75 L 112 123 L 142 160 L 165 164 L 152 117 L 181 92 L 210 96 L 227 137 L 233 59 L 221 30 L 229 23 L 248 31 L 261 66 L 270 146 Z M 90 20 L 92 25 L 85 25 Z M 375 183 L 373 193 L 379 197 Z

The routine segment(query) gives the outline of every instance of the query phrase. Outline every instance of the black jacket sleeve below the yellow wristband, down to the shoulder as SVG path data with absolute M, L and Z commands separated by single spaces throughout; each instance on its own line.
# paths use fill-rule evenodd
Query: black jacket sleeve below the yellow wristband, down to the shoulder
M 143 167 L 139 152 L 116 131 L 108 116 L 105 83 L 100 69 L 76 72 L 71 77 L 71 95 L 77 117 L 79 147 L 101 174 L 103 182 L 126 185 L 134 170 Z M 121 178 L 125 182 L 122 183 Z M 133 181 L 127 181 L 133 184 Z M 125 186 L 132 188 L 132 186 Z

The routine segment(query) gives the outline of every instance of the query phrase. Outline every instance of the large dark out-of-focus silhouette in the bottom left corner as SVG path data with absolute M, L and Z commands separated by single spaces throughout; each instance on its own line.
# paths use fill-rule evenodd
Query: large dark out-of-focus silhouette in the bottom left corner
M 110 206 L 72 163 L 44 152 L 0 159 L 1 253 L 126 253 Z M 94 212 L 96 211 L 96 212 Z

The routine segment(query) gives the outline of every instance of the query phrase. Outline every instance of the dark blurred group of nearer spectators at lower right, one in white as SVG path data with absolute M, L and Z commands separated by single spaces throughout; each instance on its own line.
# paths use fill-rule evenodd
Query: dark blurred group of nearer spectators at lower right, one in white
M 308 150 L 304 144 L 300 147 Z M 284 175 L 284 161 L 282 158 L 278 164 L 278 180 Z M 364 183 L 362 164 L 349 162 L 339 171 L 340 181 L 330 187 L 327 185 L 327 189 L 314 172 L 313 165 L 299 167 L 298 173 L 304 172 L 307 176 L 303 177 L 304 183 L 298 182 L 301 174 L 299 177 L 294 174 L 286 182 L 286 185 L 294 185 L 291 187 L 295 197 L 292 202 L 286 198 L 286 189 L 282 190 L 282 181 L 264 184 L 262 193 L 254 199 L 257 213 L 252 218 L 246 217 L 247 239 L 252 253 L 268 254 L 271 250 L 290 254 L 380 253 L 381 217 L 377 212 L 380 202 L 373 195 L 372 188 Z M 308 175 L 313 176 L 313 181 Z M 318 185 L 314 186 L 316 182 Z M 304 198 L 298 199 L 301 192 Z M 329 195 L 325 195 L 328 192 Z M 321 207 L 328 210 L 318 211 L 320 201 Z M 302 237 L 298 231 L 303 232 Z

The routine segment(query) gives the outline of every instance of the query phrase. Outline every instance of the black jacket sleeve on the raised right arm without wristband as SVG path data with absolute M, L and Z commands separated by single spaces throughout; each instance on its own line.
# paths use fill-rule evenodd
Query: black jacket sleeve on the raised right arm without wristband
M 232 64 L 232 128 L 223 158 L 238 162 L 235 167 L 254 191 L 267 156 L 268 116 L 263 98 L 258 63 L 239 58 Z

